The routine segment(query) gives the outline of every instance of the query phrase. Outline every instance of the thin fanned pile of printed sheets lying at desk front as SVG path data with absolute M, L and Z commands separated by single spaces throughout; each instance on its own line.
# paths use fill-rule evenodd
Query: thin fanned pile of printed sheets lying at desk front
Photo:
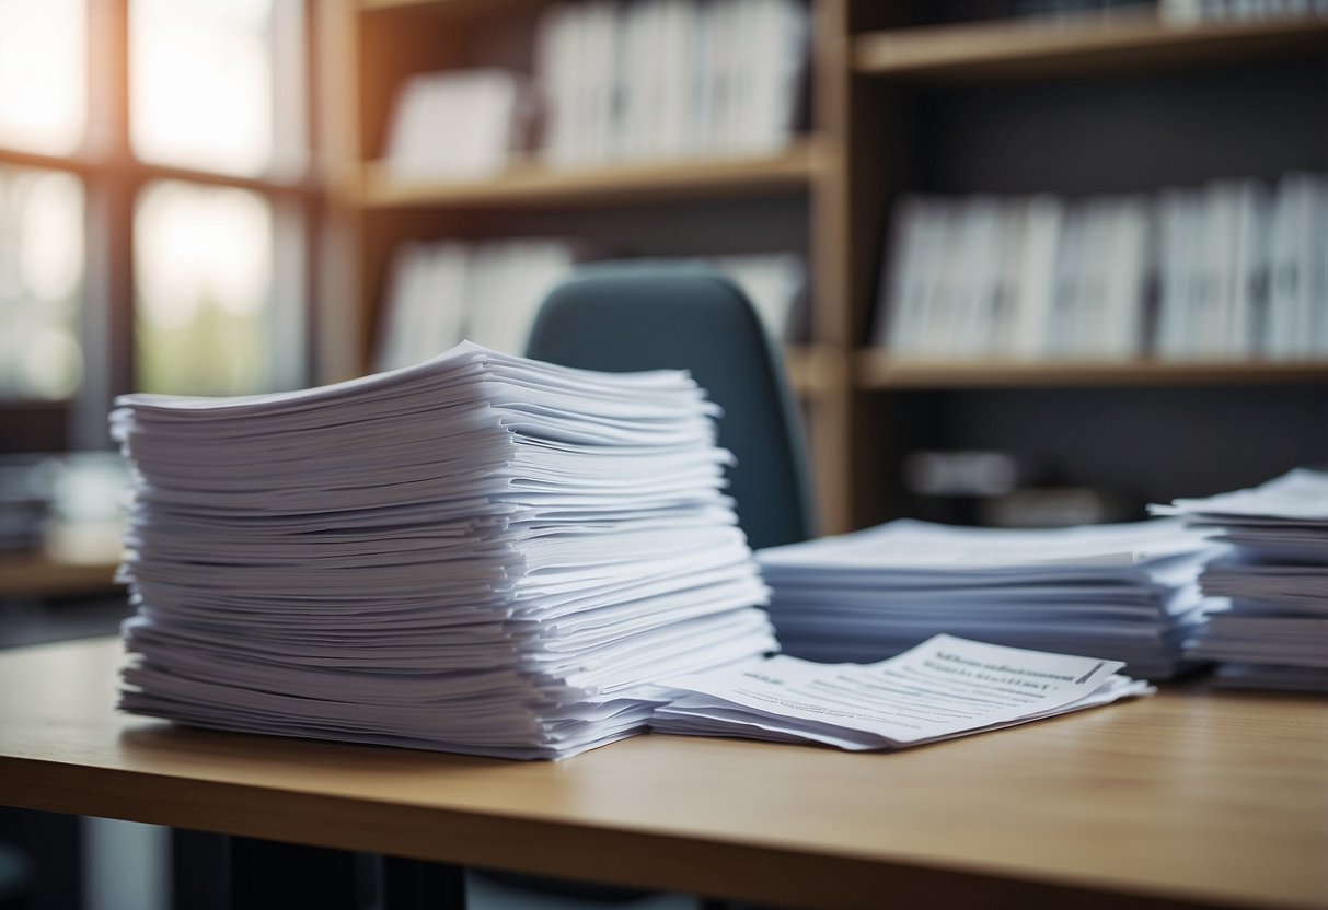
M 677 698 L 655 711 L 651 727 L 853 751 L 903 748 L 1154 691 L 1118 674 L 1121 666 L 952 635 L 869 666 L 781 654 L 671 681 Z

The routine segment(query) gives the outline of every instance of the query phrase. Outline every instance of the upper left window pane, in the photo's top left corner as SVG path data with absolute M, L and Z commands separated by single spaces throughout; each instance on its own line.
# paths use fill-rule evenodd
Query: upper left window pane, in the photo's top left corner
M 88 117 L 84 0 L 0 0 L 0 145 L 72 153 Z

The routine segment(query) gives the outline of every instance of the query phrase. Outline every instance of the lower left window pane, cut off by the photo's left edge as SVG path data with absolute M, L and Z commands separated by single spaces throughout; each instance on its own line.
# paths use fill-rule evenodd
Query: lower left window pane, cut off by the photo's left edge
M 0 167 L 0 397 L 69 398 L 82 379 L 84 191 Z

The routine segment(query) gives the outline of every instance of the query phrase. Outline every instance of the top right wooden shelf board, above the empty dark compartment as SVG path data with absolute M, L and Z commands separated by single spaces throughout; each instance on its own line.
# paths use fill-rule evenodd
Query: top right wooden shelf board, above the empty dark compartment
M 861 34 L 858 73 L 954 81 L 1138 73 L 1328 50 L 1328 21 L 1174 23 L 1157 15 L 997 20 Z

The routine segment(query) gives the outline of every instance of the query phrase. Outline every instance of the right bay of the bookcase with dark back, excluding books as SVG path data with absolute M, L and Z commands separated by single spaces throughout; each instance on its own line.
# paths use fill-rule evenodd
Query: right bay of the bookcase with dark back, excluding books
M 904 194 L 1077 200 L 1323 174 L 1328 23 L 1174 23 L 1139 9 L 938 21 L 947 15 L 922 4 L 850 8 L 843 166 L 854 203 L 841 214 L 853 340 L 850 521 L 963 512 L 907 489 L 904 467 L 918 450 L 1027 456 L 1045 486 L 1098 488 L 1134 509 L 1321 462 L 1323 362 L 923 359 L 869 340 L 888 212 Z

